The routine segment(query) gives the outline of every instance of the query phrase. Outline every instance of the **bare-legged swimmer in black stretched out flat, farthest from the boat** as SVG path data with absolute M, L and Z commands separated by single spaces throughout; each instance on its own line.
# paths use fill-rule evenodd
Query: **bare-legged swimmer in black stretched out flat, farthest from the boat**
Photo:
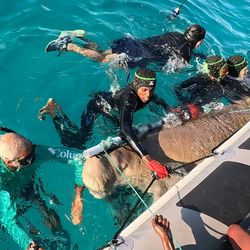
M 129 68 L 145 67 L 150 62 L 165 65 L 171 56 L 177 57 L 186 64 L 192 56 L 192 51 L 202 44 L 205 33 L 204 28 L 193 24 L 186 29 L 184 34 L 168 32 L 146 39 L 125 36 L 113 41 L 111 49 L 104 51 L 91 48 L 90 45 L 94 43 L 89 44 L 89 40 L 85 46 L 80 47 L 72 42 L 72 36 L 66 34 L 51 41 L 45 51 L 71 51 L 98 62 L 118 60 L 121 66 Z M 82 39 L 85 41 L 85 38 Z

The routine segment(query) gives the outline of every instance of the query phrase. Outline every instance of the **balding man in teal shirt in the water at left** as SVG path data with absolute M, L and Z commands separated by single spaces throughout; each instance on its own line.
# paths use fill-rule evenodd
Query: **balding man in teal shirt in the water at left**
M 37 241 L 41 243 L 40 240 L 43 241 L 40 239 L 39 231 L 24 217 L 24 214 L 20 214 L 21 210 L 17 212 L 15 199 L 27 200 L 36 204 L 52 233 L 60 233 L 64 241 L 62 246 L 65 243 L 68 244 L 69 235 L 62 229 L 59 216 L 53 209 L 46 206 L 45 201 L 40 196 L 39 187 L 34 185 L 35 172 L 38 167 L 35 162 L 39 161 L 38 158 L 41 157 L 37 152 L 36 145 L 10 129 L 0 127 L 0 131 L 6 132 L 0 136 L 1 226 L 22 249 L 42 250 L 42 247 L 36 243 Z M 40 188 L 43 189 L 41 183 Z M 18 215 L 25 218 L 30 232 L 27 232 L 26 227 L 19 224 Z M 47 240 L 47 242 L 43 241 L 42 245 L 44 244 L 55 244 L 55 242 Z

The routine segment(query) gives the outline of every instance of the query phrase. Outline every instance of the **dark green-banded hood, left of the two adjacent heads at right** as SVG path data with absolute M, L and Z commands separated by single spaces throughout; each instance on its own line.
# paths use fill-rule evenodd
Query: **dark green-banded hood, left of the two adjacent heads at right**
M 227 67 L 225 59 L 221 56 L 209 56 L 204 63 L 204 72 L 216 79 L 220 77 L 220 70 Z

